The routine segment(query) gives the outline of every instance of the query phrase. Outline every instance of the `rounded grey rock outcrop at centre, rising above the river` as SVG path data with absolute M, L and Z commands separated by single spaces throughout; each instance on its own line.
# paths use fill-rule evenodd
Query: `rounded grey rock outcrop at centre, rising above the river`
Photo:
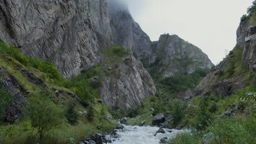
M 116 67 L 100 88 L 100 96 L 110 109 L 140 105 L 143 99 L 155 95 L 153 80 L 135 57 L 123 58 Z

